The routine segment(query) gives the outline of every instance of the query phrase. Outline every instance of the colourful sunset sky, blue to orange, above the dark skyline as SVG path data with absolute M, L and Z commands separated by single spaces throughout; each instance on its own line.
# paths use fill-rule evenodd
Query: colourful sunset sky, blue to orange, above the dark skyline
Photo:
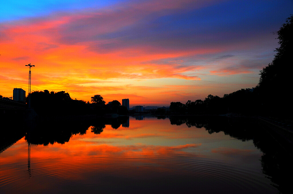
M 292 0 L 4 1 L 0 95 L 66 91 L 134 105 L 222 97 L 258 84 Z

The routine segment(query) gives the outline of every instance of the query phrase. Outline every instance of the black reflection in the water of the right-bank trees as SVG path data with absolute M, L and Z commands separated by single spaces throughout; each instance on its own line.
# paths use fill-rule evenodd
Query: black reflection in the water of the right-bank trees
M 209 134 L 223 131 L 225 135 L 248 141 L 252 140 L 255 147 L 263 152 L 261 165 L 263 173 L 272 181 L 273 186 L 280 192 L 286 193 L 291 190 L 291 180 L 284 174 L 293 174 L 292 145 L 281 146 L 279 142 L 284 139 L 278 137 L 268 127 L 259 124 L 256 119 L 227 118 L 227 117 L 170 117 L 171 124 L 186 124 L 188 127 L 204 127 Z M 269 133 L 268 133 L 269 131 Z M 276 141 L 277 139 L 277 141 Z M 284 149 L 287 148 L 287 150 Z

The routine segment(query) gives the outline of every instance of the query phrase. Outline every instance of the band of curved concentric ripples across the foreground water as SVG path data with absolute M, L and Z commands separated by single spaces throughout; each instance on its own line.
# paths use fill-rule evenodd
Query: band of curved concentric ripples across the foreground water
M 255 191 L 255 188 L 267 186 L 267 180 L 263 179 L 260 172 L 235 168 L 224 162 L 202 157 L 91 157 L 73 161 L 45 160 L 31 163 L 33 178 L 58 178 L 59 184 L 71 181 L 90 179 L 96 175 L 118 176 L 145 179 L 154 177 L 180 176 L 183 179 L 205 180 L 210 183 L 218 183 L 223 187 L 237 186 L 245 190 Z M 13 170 L 13 174 L 8 171 Z M 6 173 L 7 172 L 7 173 Z M 14 168 L 2 171 L 0 186 L 21 184 L 23 170 Z M 237 184 L 237 185 L 235 185 Z

